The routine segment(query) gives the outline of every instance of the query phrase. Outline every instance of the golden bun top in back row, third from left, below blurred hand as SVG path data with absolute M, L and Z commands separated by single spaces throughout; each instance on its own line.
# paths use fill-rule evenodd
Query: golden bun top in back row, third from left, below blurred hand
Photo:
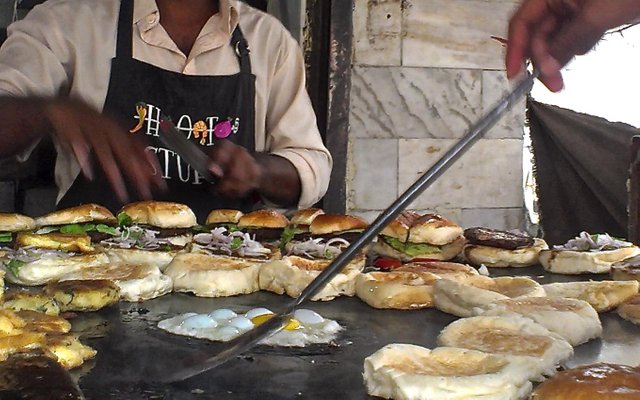
M 139 201 L 127 204 L 120 212 L 134 223 L 158 228 L 191 228 L 198 224 L 196 215 L 184 204 L 165 201 Z

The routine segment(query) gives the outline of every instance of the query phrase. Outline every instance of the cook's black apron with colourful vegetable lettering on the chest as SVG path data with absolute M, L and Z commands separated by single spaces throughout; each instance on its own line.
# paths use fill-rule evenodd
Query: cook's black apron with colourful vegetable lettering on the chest
M 255 208 L 255 196 L 231 200 L 214 195 L 211 185 L 180 156 L 165 148 L 158 136 L 160 115 L 167 115 L 190 140 L 207 151 L 208 146 L 214 145 L 214 128 L 224 122 L 227 128 L 231 127 L 231 134 L 225 140 L 255 151 L 255 76 L 251 73 L 249 48 L 240 27 L 234 30 L 230 43 L 238 57 L 240 72 L 229 76 L 184 75 L 133 59 L 132 27 L 133 0 L 122 0 L 116 56 L 111 61 L 103 112 L 123 126 L 135 129 L 140 119 L 136 105 L 145 104 L 142 127 L 129 134 L 135 140 L 146 139 L 147 150 L 158 157 L 161 171 L 157 172 L 165 179 L 169 191 L 156 195 L 155 200 L 187 204 L 199 220 L 204 220 L 215 208 L 242 211 Z M 80 174 L 57 204 L 58 209 L 98 203 L 116 212 L 122 206 L 96 160 L 92 162 L 94 180 L 89 181 Z M 135 189 L 131 185 L 128 189 L 133 198 Z

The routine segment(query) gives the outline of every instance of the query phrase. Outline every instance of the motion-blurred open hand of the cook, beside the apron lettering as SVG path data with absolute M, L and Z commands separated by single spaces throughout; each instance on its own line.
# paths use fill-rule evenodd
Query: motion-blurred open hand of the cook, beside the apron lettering
M 56 100 L 43 106 L 43 115 L 61 146 L 71 151 L 82 172 L 93 179 L 90 154 L 105 172 L 111 187 L 122 202 L 129 200 L 125 177 L 141 198 L 151 198 L 154 189 L 164 189 L 156 156 L 145 145 L 112 119 L 84 103 Z M 123 176 L 124 175 L 124 176 Z

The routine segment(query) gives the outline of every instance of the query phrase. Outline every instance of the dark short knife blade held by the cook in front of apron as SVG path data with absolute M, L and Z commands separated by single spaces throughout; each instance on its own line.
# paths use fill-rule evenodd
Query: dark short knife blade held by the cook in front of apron
M 167 117 L 160 118 L 160 141 L 173 150 L 186 161 L 191 168 L 198 172 L 202 178 L 209 183 L 216 183 L 216 178 L 209 171 L 209 157 L 198 147 L 197 144 L 190 141 L 171 119 Z

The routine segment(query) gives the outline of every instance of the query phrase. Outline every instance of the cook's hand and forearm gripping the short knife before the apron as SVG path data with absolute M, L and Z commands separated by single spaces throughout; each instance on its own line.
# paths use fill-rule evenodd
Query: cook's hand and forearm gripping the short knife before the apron
M 229 140 L 219 140 L 209 151 L 209 170 L 218 178 L 215 191 L 228 198 L 242 198 L 257 192 L 282 206 L 300 197 L 300 178 L 286 159 L 250 153 Z

